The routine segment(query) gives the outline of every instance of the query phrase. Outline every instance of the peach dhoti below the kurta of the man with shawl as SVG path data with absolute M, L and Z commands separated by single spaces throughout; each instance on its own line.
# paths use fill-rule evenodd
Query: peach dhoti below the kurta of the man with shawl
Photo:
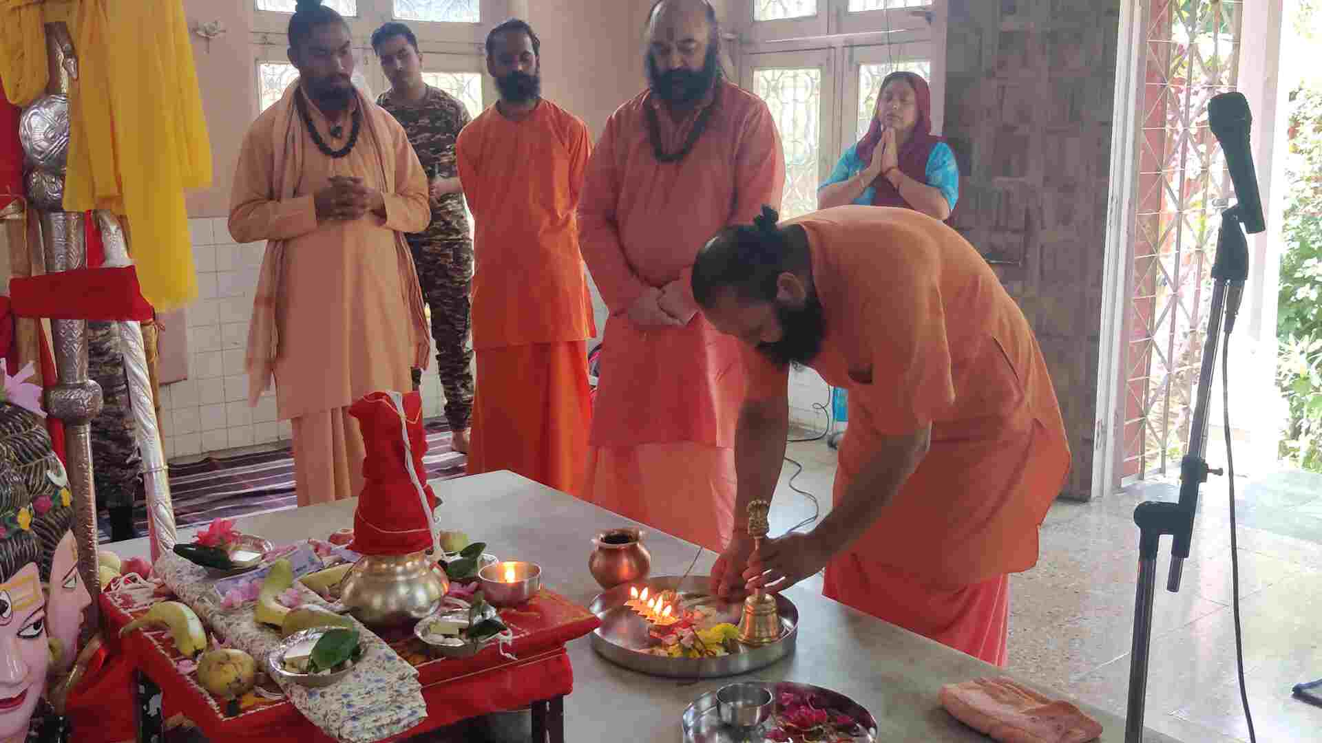
M 309 412 L 293 424 L 293 479 L 299 505 L 325 504 L 362 492 L 362 434 L 348 407 Z

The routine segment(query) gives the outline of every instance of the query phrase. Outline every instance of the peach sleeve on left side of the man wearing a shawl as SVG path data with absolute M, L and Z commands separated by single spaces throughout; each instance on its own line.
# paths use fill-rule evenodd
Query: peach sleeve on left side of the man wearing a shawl
M 276 198 L 271 128 L 266 118 L 259 119 L 239 148 L 230 190 L 230 235 L 238 242 L 293 239 L 317 229 L 312 194 Z

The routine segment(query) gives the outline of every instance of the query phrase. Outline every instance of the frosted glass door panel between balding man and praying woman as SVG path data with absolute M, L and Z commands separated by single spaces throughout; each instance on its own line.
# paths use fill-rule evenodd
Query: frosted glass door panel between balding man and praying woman
M 817 209 L 817 186 L 830 172 L 836 143 L 836 73 L 830 50 L 750 54 L 743 87 L 771 108 L 785 152 L 781 218 Z

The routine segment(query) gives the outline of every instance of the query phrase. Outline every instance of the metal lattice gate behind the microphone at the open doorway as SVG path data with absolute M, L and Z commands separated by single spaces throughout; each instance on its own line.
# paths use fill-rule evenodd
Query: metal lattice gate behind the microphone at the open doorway
M 1144 0 L 1144 91 L 1121 477 L 1178 472 L 1229 178 L 1207 103 L 1235 90 L 1240 0 Z

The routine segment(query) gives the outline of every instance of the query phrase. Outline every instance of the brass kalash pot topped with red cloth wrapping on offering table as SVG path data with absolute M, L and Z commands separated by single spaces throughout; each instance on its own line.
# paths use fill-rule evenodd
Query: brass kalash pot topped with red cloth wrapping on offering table
M 422 504 L 432 546 L 431 550 L 407 554 L 364 554 L 341 582 L 340 602 L 349 609 L 349 613 L 369 627 L 416 621 L 435 612 L 440 607 L 442 598 L 449 590 L 449 578 L 446 576 L 444 566 L 436 563 L 444 555 L 440 550 L 436 518 L 427 500 L 427 488 L 419 479 L 419 473 L 426 472 L 422 469 L 422 451 L 415 451 L 414 443 L 410 440 L 419 439 L 422 434 L 422 402 L 418 393 L 407 395 L 393 391 L 371 393 L 356 402 L 349 409 L 349 414 L 358 419 L 362 428 L 368 457 L 381 457 L 390 464 L 389 475 L 382 475 L 382 477 L 389 477 L 389 480 L 382 480 L 386 487 L 374 488 L 371 477 L 369 477 L 358 501 L 360 514 L 356 516 L 356 520 L 361 516 L 365 505 L 373 517 L 377 517 L 382 508 L 387 510 L 402 508 L 411 498 L 402 498 L 398 502 L 383 501 L 382 493 L 389 485 L 407 483 L 419 498 L 408 502 L 408 509 Z M 393 448 L 398 446 L 394 442 L 398 440 L 401 432 L 403 434 L 403 447 Z M 424 438 L 422 440 L 426 442 Z M 426 451 L 426 444 L 423 451 Z M 403 461 L 398 461 L 401 455 Z M 377 460 L 373 464 L 381 463 Z M 395 467 L 407 472 L 407 479 L 394 469 Z M 366 471 L 365 465 L 365 475 Z M 385 472 L 385 468 L 374 467 L 373 472 Z M 407 485 L 395 487 L 391 490 L 393 494 L 401 497 L 405 492 L 407 492 Z M 373 502 L 369 504 L 369 500 Z M 440 498 L 436 500 L 440 501 Z M 364 521 L 366 522 L 368 518 Z M 397 531 L 398 528 L 389 533 Z

